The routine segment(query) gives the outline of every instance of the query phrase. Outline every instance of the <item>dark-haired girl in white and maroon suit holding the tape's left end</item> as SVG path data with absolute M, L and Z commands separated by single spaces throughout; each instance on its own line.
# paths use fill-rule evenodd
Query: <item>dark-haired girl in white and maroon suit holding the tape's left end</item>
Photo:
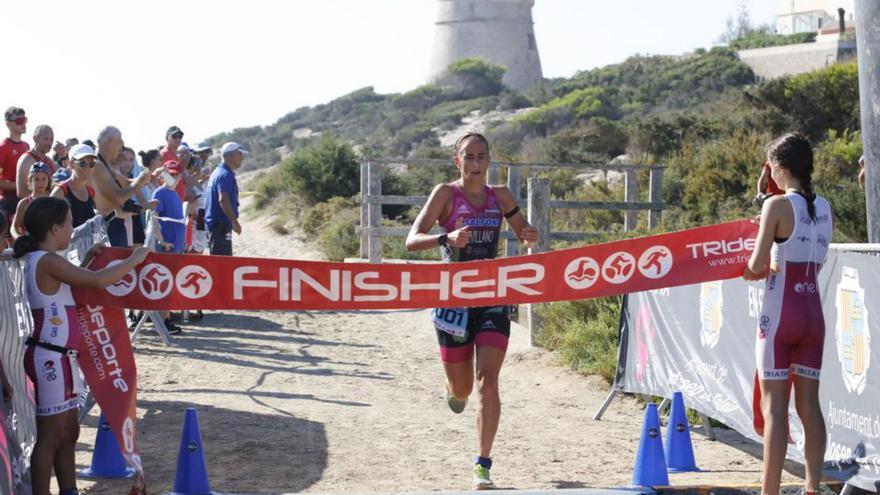
M 135 249 L 122 263 L 96 272 L 80 268 L 55 254 L 67 249 L 73 217 L 67 201 L 35 199 L 24 216 L 25 235 L 15 240 L 16 258 L 26 256 L 25 287 L 34 333 L 27 339 L 25 372 L 34 383 L 37 443 L 31 454 L 34 495 L 49 495 L 52 468 L 60 495 L 76 495 L 74 448 L 79 438 L 77 417 L 79 366 L 76 351 L 80 328 L 70 288 L 106 287 L 146 258 Z M 97 252 L 86 256 L 89 260 Z

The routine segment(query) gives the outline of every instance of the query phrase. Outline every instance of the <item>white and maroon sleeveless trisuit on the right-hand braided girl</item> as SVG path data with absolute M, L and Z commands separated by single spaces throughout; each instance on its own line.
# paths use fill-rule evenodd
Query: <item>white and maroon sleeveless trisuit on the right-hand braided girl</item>
M 764 286 L 764 304 L 758 321 L 756 358 L 761 378 L 786 379 L 788 370 L 818 378 L 822 366 L 825 319 L 817 283 L 828 254 L 832 218 L 828 201 L 816 196 L 815 220 L 807 200 L 798 193 L 785 195 L 794 211 L 794 229 L 784 242 L 774 242 L 771 272 Z

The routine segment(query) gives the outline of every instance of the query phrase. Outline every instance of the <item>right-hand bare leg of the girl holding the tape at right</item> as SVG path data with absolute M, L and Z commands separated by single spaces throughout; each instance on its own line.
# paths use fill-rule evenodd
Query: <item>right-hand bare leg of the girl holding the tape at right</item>
M 794 405 L 804 425 L 804 458 L 807 461 L 807 491 L 817 491 L 822 481 L 825 458 L 825 420 L 819 403 L 819 380 L 794 377 Z

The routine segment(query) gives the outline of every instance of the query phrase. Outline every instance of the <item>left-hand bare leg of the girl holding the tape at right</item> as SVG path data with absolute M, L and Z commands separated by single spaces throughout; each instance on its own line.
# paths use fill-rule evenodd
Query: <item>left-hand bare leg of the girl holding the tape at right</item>
M 778 495 L 788 448 L 788 380 L 761 380 L 764 413 L 764 477 L 762 495 Z

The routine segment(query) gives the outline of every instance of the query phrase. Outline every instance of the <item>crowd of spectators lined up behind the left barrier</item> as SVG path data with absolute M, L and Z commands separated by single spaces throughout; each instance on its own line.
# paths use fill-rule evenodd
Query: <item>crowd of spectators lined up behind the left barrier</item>
M 94 141 L 74 137 L 62 142 L 52 127 L 40 124 L 33 128 L 31 146 L 24 140 L 25 110 L 9 107 L 4 117 L 8 135 L 0 143 L 0 248 L 25 234 L 30 203 L 52 196 L 69 203 L 74 228 L 103 216 L 114 247 L 232 255 L 232 233 L 241 233 L 235 172 L 247 154 L 240 144 L 223 144 L 212 170 L 212 146 L 188 145 L 177 126 L 168 128 L 161 146 L 135 153 L 113 126 L 101 129 Z M 166 328 L 175 334 L 181 328 L 173 320 L 199 319 L 201 311 L 164 316 Z M 130 312 L 129 317 L 134 325 L 140 315 Z

